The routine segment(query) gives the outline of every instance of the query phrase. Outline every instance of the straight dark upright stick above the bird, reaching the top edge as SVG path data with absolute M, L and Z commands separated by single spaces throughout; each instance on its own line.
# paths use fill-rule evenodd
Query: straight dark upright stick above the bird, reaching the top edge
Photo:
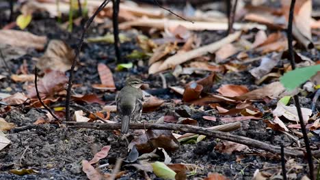
M 112 23 L 114 25 L 114 50 L 116 51 L 116 61 L 121 62 L 120 39 L 119 39 L 119 6 L 120 0 L 112 0 Z

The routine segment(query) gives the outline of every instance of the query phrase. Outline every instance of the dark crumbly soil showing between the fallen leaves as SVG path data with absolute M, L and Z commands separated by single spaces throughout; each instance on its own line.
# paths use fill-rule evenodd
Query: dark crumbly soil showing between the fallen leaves
M 5 25 L 3 18 L 5 15 L 0 13 L 1 26 Z M 73 48 L 76 48 L 78 38 L 80 37 L 81 27 L 75 27 L 72 33 L 68 33 L 65 29 L 61 29 L 57 20 L 46 17 L 45 14 L 40 14 L 39 17 L 34 18 L 26 31 L 36 35 L 46 35 L 49 39 L 60 39 L 68 43 Z M 92 25 L 88 31 L 87 37 L 95 35 L 104 35 L 105 29 Z M 223 37 L 224 32 L 210 31 L 198 33 L 202 37 L 203 44 L 209 44 Z M 133 50 L 138 49 L 136 42 L 126 42 L 121 46 L 122 55 L 127 55 Z M 309 52 L 302 52 L 304 55 L 310 57 L 312 60 L 319 59 L 319 52 L 310 54 Z M 27 61 L 29 72 L 33 72 L 35 61 L 32 57 L 40 57 L 43 52 L 33 50 L 29 54 L 24 55 L 18 59 L 8 61 L 8 65 L 15 73 L 23 61 Z M 99 83 L 99 77 L 96 70 L 98 63 L 107 64 L 114 73 L 114 81 L 116 82 L 117 90 L 124 85 L 124 80 L 128 76 L 137 76 L 144 80 L 152 82 L 148 92 L 156 95 L 159 98 L 166 100 L 165 104 L 153 112 L 148 112 L 142 115 L 142 119 L 146 121 L 157 121 L 163 115 L 176 112 L 181 108 L 181 104 L 174 105 L 173 99 L 181 99 L 181 95 L 177 95 L 168 89 L 163 91 L 155 91 L 162 89 L 162 82 L 159 76 L 148 76 L 148 59 L 135 59 L 135 66 L 128 71 L 117 72 L 114 71 L 116 62 L 114 62 L 114 46 L 112 44 L 84 44 L 80 62 L 77 72 L 75 72 L 75 83 L 81 84 L 81 87 L 75 88 L 75 92 L 81 94 L 96 93 L 105 100 L 106 104 L 114 103 L 115 93 L 103 93 L 99 90 L 92 89 L 92 84 Z M 138 66 L 137 62 L 143 61 L 143 66 Z M 258 65 L 258 64 L 257 64 Z M 0 72 L 4 72 L 5 67 L 0 67 Z M 67 72 L 69 74 L 69 72 Z M 168 85 L 183 85 L 181 80 L 191 79 L 196 80 L 208 76 L 206 74 L 191 74 L 183 75 L 178 79 L 174 78 L 170 73 L 165 74 L 168 77 Z M 227 74 L 218 74 L 222 79 L 213 85 L 214 92 L 220 85 L 234 84 L 234 85 L 248 85 L 249 89 L 256 89 L 254 84 L 254 77 L 248 71 L 231 72 Z M 266 84 L 269 82 L 265 82 Z M 0 80 L 0 93 L 5 92 L 7 87 L 11 87 L 12 91 L 25 92 L 23 83 L 14 82 L 12 80 Z M 310 108 L 311 97 L 300 97 L 302 107 Z M 52 106 L 62 105 L 64 102 L 56 102 Z M 97 104 L 80 104 L 90 110 L 101 110 L 101 106 Z M 276 102 L 265 104 L 257 102 L 255 104 L 258 108 L 275 108 Z M 206 110 L 207 107 L 204 109 Z M 208 108 L 209 110 L 209 108 Z M 319 110 L 319 108 L 318 108 Z M 204 115 L 216 115 L 215 110 L 204 111 L 196 106 L 191 109 L 191 118 L 196 119 L 201 126 L 211 127 L 213 125 L 222 124 L 217 121 L 207 121 L 202 118 Z M 177 114 L 177 113 L 176 113 Z M 178 115 L 179 116 L 179 115 Z M 31 125 L 38 117 L 44 117 L 44 113 L 35 108 L 28 108 L 21 106 L 12 110 L 5 115 L 5 121 L 15 123 L 17 126 Z M 265 118 L 271 118 L 271 114 L 265 113 Z M 111 113 L 111 121 L 118 121 L 115 113 Z M 267 142 L 271 145 L 284 145 L 287 147 L 296 147 L 296 142 L 286 136 L 285 134 L 267 130 L 263 120 L 241 121 L 241 129 L 232 132 L 237 135 L 246 136 L 256 140 Z M 24 130 L 21 132 L 8 133 L 8 139 L 12 141 L 8 147 L 0 151 L 0 179 L 86 179 L 85 173 L 82 171 L 81 160 L 91 160 L 94 153 L 100 151 L 105 145 L 111 145 L 111 150 L 107 159 L 101 160 L 100 164 L 114 164 L 116 158 L 126 157 L 126 142 L 121 140 L 111 131 L 98 130 L 75 130 L 66 127 L 66 125 L 38 125 L 36 128 Z M 196 164 L 200 166 L 195 173 L 188 177 L 188 179 L 202 179 L 207 177 L 209 172 L 218 172 L 230 179 L 252 179 L 256 169 L 263 169 L 268 167 L 280 166 L 280 155 L 271 153 L 263 153 L 259 149 L 250 149 L 246 153 L 232 153 L 228 155 L 215 151 L 214 147 L 221 140 L 207 137 L 197 144 L 183 145 L 175 152 L 169 152 L 172 158 L 172 163 Z M 317 140 L 316 140 L 317 141 Z M 319 140 L 318 140 L 319 143 Z M 316 144 L 316 143 L 315 143 Z M 318 144 L 319 145 L 319 144 Z M 303 146 L 303 143 L 302 143 Z M 314 147 L 317 149 L 317 147 Z M 304 168 L 302 170 L 295 170 L 297 179 L 302 175 L 307 174 L 306 162 L 301 159 L 296 160 Z M 32 175 L 14 175 L 9 172 L 12 169 L 32 168 L 38 170 L 38 173 Z M 111 173 L 112 168 L 103 168 L 103 172 Z M 280 168 L 270 168 L 266 170 L 271 174 L 280 172 Z M 144 179 L 142 172 L 135 168 L 124 168 L 126 174 L 121 179 Z M 148 173 L 151 179 L 157 179 L 154 174 Z

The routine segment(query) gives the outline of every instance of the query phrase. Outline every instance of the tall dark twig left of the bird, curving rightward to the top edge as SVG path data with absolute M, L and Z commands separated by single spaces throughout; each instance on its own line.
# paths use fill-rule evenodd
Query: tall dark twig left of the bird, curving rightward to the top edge
M 81 50 L 81 47 L 83 44 L 83 39 L 84 39 L 85 33 L 87 32 L 88 28 L 90 27 L 90 25 L 91 25 L 92 21 L 94 20 L 94 18 L 96 17 L 96 15 L 99 12 L 101 12 L 101 10 L 103 10 L 103 8 L 105 8 L 105 6 L 109 3 L 109 1 L 110 0 L 104 0 L 103 3 L 101 3 L 101 5 L 96 10 L 96 12 L 94 12 L 94 14 L 88 19 L 88 21 L 85 23 L 85 25 L 83 27 L 81 38 L 79 40 L 79 44 L 76 49 L 75 58 L 72 60 L 70 77 L 69 77 L 69 81 L 68 81 L 68 89 L 67 89 L 67 95 L 66 95 L 66 121 L 70 121 L 70 97 L 71 97 L 72 80 L 73 80 L 73 76 L 74 76 L 74 72 L 75 72 L 75 65 L 76 65 L 77 59 L 79 57 L 79 53 L 80 53 L 80 50 Z

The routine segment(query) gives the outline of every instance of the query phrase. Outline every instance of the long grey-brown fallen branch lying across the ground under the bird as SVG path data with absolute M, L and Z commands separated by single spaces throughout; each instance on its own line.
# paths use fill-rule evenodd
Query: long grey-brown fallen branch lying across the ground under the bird
M 121 127 L 120 123 L 85 123 L 85 122 L 66 122 L 69 128 L 88 128 L 94 130 L 118 130 Z M 144 127 L 148 130 L 175 130 L 185 133 L 202 134 L 205 136 L 212 136 L 214 138 L 220 138 L 222 140 L 229 140 L 232 142 L 237 142 L 242 145 L 247 145 L 248 147 L 255 147 L 258 149 L 263 149 L 271 153 L 281 153 L 281 148 L 278 146 L 270 145 L 259 140 L 252 138 L 247 138 L 243 136 L 238 136 L 235 134 L 230 134 L 228 132 L 220 132 L 217 130 L 209 130 L 204 127 L 197 127 L 193 125 L 181 125 L 181 124 L 155 124 L 155 123 L 132 123 L 130 128 L 132 130 L 143 130 Z M 304 157 L 304 151 L 297 149 L 284 148 L 285 155 L 291 155 L 294 157 Z M 320 153 L 315 151 L 315 157 L 320 157 Z

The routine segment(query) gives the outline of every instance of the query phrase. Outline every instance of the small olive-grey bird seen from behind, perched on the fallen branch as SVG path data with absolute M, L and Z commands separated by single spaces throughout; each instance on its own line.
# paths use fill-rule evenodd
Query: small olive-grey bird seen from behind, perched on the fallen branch
M 116 96 L 117 112 L 121 118 L 121 133 L 129 132 L 129 123 L 131 120 L 137 121 L 142 114 L 142 104 L 144 95 L 140 87 L 148 82 L 144 82 L 139 78 L 128 78 L 126 85 Z

